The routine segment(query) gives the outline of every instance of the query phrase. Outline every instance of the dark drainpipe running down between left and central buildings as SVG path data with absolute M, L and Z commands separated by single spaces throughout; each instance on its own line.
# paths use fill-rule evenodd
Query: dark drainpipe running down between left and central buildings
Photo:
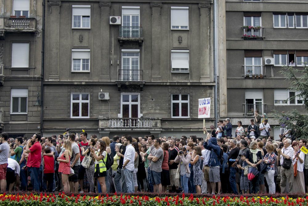
M 41 137 L 43 137 L 43 110 L 44 110 L 44 102 L 43 102 L 43 97 L 44 97 L 44 86 L 43 86 L 43 82 L 44 82 L 44 51 L 45 51 L 45 0 L 43 0 L 42 2 L 42 6 L 43 6 L 43 22 L 42 22 L 42 65 L 41 65 L 41 119 L 40 119 L 40 123 L 41 123 L 41 128 L 40 128 L 40 132 L 41 132 Z

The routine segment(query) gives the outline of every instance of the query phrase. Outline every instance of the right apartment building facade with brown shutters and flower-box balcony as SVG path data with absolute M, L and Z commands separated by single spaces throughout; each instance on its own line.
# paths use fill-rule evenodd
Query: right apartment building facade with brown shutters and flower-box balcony
M 299 98 L 287 90 L 290 86 L 279 73 L 283 65 L 301 68 L 308 61 L 308 3 L 306 1 L 223 0 L 218 12 L 225 12 L 225 41 L 221 41 L 219 59 L 220 97 L 226 95 L 228 105 L 220 104 L 221 118 L 231 118 L 233 135 L 237 121 L 244 129 L 254 119 L 254 111 L 268 115 L 270 125 L 279 125 L 271 118 L 273 110 L 304 111 Z M 225 9 L 225 11 L 224 11 Z M 219 35 L 219 34 L 218 34 Z M 221 37 L 222 38 L 222 37 Z M 219 61 L 221 64 L 221 61 Z M 300 75 L 300 74 L 299 74 Z M 225 86 L 225 87 L 222 87 Z M 280 131 L 271 135 L 279 139 Z

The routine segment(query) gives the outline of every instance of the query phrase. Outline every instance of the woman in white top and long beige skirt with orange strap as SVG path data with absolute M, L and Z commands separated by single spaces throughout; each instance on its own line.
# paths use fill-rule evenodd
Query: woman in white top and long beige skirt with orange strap
M 294 149 L 293 165 L 297 162 L 297 175 L 294 176 L 294 192 L 305 193 L 305 179 L 304 179 L 304 158 L 305 154 L 299 150 L 297 141 L 292 143 Z M 298 153 L 300 151 L 300 153 Z M 294 171 L 295 172 L 295 171 Z

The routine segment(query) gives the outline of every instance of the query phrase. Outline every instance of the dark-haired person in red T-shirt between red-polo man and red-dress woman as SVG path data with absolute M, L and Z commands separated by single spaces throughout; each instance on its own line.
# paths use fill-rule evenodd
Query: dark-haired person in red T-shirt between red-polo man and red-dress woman
M 43 150 L 42 150 L 43 153 Z M 51 149 L 49 147 L 45 148 L 45 153 L 51 153 Z M 44 155 L 44 180 L 48 183 L 47 188 L 44 188 L 47 192 L 52 192 L 53 183 L 54 183 L 54 166 L 55 166 L 55 159 L 54 156 Z

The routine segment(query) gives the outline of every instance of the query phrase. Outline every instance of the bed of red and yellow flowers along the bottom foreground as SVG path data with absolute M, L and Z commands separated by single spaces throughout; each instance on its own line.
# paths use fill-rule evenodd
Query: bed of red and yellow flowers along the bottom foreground
M 241 206 L 241 205 L 257 205 L 257 206 L 274 206 L 274 205 L 286 205 L 286 206 L 303 206 L 307 205 L 308 196 L 292 198 L 286 195 L 286 197 L 268 197 L 268 196 L 239 196 L 239 197 L 205 197 L 199 196 L 194 197 L 192 194 L 189 197 L 185 195 L 176 196 L 163 196 L 163 197 L 148 197 L 143 196 L 130 196 L 130 195 L 117 195 L 112 196 L 99 195 L 99 196 L 89 196 L 89 195 L 66 195 L 64 193 L 49 194 L 46 193 L 40 195 L 7 195 L 6 193 L 0 194 L 0 205 L 7 206 L 38 206 L 38 205 L 48 205 L 48 206 L 87 206 L 87 205 L 104 205 L 104 206 Z

